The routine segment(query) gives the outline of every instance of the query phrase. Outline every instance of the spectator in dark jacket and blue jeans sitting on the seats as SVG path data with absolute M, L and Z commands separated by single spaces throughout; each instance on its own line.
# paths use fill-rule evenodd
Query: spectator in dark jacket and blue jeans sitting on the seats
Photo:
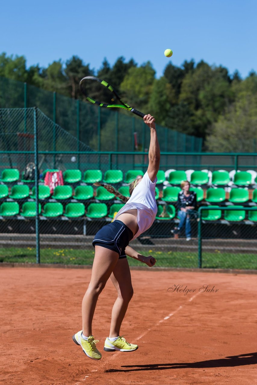
M 178 238 L 181 229 L 185 226 L 186 241 L 191 239 L 191 224 L 190 224 L 190 215 L 193 213 L 193 210 L 196 208 L 197 199 L 196 193 L 190 191 L 190 183 L 188 181 L 181 182 L 181 189 L 178 193 L 177 209 L 178 217 L 180 218 L 180 223 L 178 227 L 175 227 L 171 230 L 171 233 L 175 235 L 175 238 Z

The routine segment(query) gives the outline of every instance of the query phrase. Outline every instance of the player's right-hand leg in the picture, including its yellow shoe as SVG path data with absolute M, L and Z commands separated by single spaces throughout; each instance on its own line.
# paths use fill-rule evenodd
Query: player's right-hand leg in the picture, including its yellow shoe
M 104 343 L 104 350 L 107 352 L 113 352 L 115 350 L 132 352 L 138 349 L 138 345 L 128 343 L 125 338 L 119 335 L 121 323 L 128 309 L 129 301 L 133 296 L 131 274 L 127 258 L 118 259 L 110 278 L 118 292 L 118 297 L 113 305 L 110 334 Z M 116 340 L 114 340 L 114 338 L 116 338 Z

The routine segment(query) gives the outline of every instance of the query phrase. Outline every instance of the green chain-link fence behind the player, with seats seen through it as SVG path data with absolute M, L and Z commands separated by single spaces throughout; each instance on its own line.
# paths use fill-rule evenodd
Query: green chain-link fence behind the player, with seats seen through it
M 0 261 L 92 264 L 94 234 L 112 220 L 122 204 L 92 183 L 109 182 L 126 195 L 128 170 L 132 167 L 139 170 L 136 173 L 146 172 L 148 155 L 95 152 L 82 142 L 78 151 L 77 138 L 37 108 L 0 109 L 0 127 Z M 47 151 L 53 142 L 56 151 Z M 179 234 L 172 232 L 180 222 L 176 210 L 179 182 L 170 179 L 170 171 L 167 174 L 168 169 L 178 169 L 175 156 L 180 157 L 184 169 L 192 167 L 194 154 L 162 154 L 163 172 L 156 185 L 158 214 L 153 226 L 131 246 L 139 253 L 155 256 L 159 267 L 256 269 L 255 177 L 251 176 L 247 186 L 234 185 L 230 178 L 218 189 L 209 175 L 205 181 L 195 180 L 191 188 L 197 189 L 200 211 L 191 215 L 191 239 L 186 241 L 185 228 Z M 197 156 L 199 161 L 203 159 L 202 154 Z M 225 159 L 232 159 L 235 167 L 241 164 L 240 157 L 247 159 L 247 167 L 255 168 L 256 154 L 209 156 L 214 169 L 220 169 Z M 198 169 L 201 166 L 199 163 Z M 229 164 L 227 168 L 231 169 Z M 59 171 L 63 184 L 62 180 L 57 182 Z M 239 174 L 249 178 L 247 173 Z M 54 181 L 60 185 L 51 189 Z M 220 202 L 213 203 L 207 194 L 211 189 L 223 194 Z M 238 201 L 238 192 L 244 203 Z M 218 208 L 211 208 L 213 204 Z M 235 211 L 241 216 L 234 218 L 231 207 L 237 207 Z M 143 266 L 131 258 L 129 263 Z

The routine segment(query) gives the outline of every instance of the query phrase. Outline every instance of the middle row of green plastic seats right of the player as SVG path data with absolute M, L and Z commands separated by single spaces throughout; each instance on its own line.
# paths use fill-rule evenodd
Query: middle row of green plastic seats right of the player
M 168 186 L 163 189 L 163 198 L 165 202 L 176 202 L 178 199 L 178 193 L 181 191 L 180 187 Z M 197 202 L 200 202 L 204 198 L 204 191 L 202 187 L 190 187 L 190 191 L 195 191 L 197 194 Z M 222 187 L 208 188 L 206 190 L 205 201 L 210 203 L 221 203 L 226 199 L 226 192 Z M 245 203 L 249 201 L 249 191 L 240 187 L 232 188 L 228 198 L 232 203 Z M 257 203 L 257 189 L 253 191 L 252 202 Z

